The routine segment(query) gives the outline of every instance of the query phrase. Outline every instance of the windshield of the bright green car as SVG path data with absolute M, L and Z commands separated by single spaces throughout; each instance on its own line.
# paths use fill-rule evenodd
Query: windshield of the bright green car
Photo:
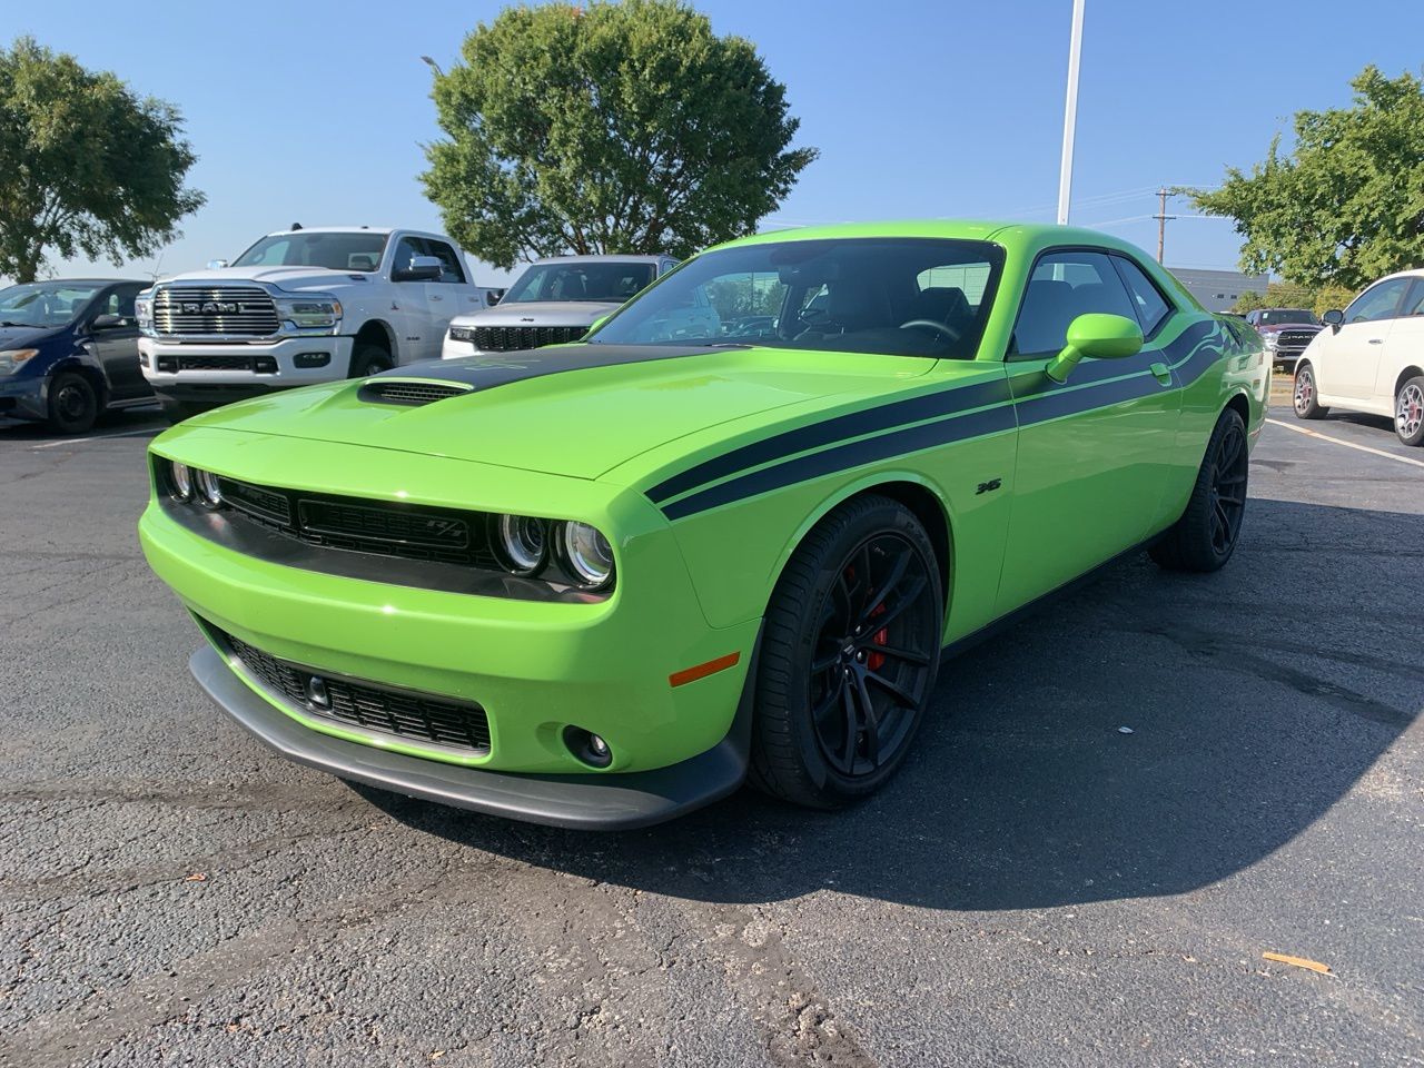
M 973 359 L 1004 252 L 983 241 L 843 238 L 708 252 L 592 345 L 775 345 Z

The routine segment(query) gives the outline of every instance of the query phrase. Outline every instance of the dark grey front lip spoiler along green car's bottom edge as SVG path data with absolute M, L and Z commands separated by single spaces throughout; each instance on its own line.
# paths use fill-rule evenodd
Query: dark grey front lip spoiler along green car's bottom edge
M 289 760 L 491 816 L 578 830 L 629 830 L 711 805 L 746 778 L 752 676 L 731 731 L 713 748 L 655 770 L 591 776 L 476 770 L 347 742 L 279 712 L 211 646 L 194 652 L 188 668 L 224 712 Z

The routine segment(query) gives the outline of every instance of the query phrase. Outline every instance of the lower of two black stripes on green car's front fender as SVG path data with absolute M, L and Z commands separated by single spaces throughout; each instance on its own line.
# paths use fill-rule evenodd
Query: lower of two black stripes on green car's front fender
M 823 474 L 833 474 L 879 460 L 889 460 L 894 456 L 934 449 L 951 441 L 1012 430 L 1014 426 L 1014 410 L 1008 404 L 951 416 L 934 423 L 921 423 L 907 430 L 897 430 L 864 441 L 852 441 L 834 449 L 824 449 L 810 456 L 787 460 L 775 467 L 763 467 L 759 471 L 743 474 L 740 478 L 732 478 L 672 504 L 665 504 L 662 514 L 669 520 L 679 520 L 684 515 L 731 504 L 743 497 L 755 497 L 770 490 L 780 490 L 786 486 L 819 478 Z

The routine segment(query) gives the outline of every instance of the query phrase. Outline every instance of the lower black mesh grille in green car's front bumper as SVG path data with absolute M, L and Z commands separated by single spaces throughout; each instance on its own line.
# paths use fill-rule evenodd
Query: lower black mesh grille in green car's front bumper
M 305 715 L 412 742 L 470 753 L 490 752 L 490 721 L 476 703 L 326 675 L 278 659 L 212 624 L 206 627 L 248 674 Z M 319 686 L 313 685 L 313 679 L 319 681 Z M 318 703 L 313 692 L 325 695 L 326 703 Z

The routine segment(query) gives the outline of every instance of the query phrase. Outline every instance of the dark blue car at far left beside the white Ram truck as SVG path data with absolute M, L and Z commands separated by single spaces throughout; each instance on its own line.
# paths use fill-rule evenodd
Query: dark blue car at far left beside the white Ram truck
M 0 289 L 0 416 L 83 434 L 107 409 L 152 403 L 134 318 L 148 285 L 104 278 Z

